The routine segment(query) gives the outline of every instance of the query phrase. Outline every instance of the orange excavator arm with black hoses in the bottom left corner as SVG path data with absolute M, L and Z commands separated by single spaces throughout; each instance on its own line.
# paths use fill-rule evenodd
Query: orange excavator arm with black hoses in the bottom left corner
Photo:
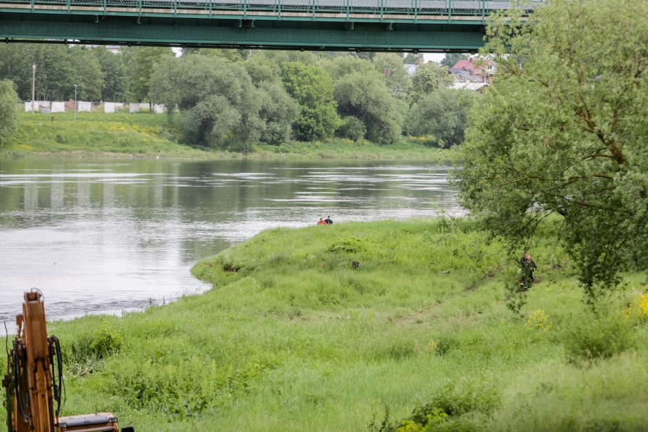
M 61 417 L 63 362 L 56 336 L 48 337 L 43 294 L 25 293 L 23 313 L 16 317 L 17 335 L 8 352 L 6 389 L 9 432 L 119 432 L 112 413 Z M 57 407 L 54 409 L 54 402 Z M 121 432 L 134 432 L 132 426 Z

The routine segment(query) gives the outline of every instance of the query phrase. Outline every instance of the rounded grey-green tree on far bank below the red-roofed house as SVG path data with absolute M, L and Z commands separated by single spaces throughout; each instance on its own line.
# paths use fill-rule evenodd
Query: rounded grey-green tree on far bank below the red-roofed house
M 472 92 L 441 89 L 412 105 L 409 132 L 416 136 L 432 135 L 444 148 L 463 143 L 468 125 Z

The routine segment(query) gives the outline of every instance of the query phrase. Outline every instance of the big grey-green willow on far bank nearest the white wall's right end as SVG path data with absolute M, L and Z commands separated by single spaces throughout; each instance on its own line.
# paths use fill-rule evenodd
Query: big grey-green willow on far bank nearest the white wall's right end
M 152 101 L 179 108 L 189 143 L 247 151 L 261 135 L 259 90 L 239 64 L 202 55 L 167 58 L 151 83 Z

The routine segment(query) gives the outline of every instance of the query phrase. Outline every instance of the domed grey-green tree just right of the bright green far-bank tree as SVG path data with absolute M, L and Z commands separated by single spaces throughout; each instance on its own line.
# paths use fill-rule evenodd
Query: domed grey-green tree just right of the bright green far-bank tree
M 404 103 L 394 98 L 376 71 L 354 72 L 335 85 L 338 110 L 362 121 L 367 138 L 377 143 L 394 143 L 401 137 Z

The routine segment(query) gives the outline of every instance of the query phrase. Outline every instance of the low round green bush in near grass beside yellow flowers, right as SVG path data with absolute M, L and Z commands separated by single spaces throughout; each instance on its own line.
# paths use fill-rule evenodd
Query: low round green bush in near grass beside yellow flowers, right
M 567 360 L 573 364 L 591 364 L 634 347 L 633 322 L 626 313 L 588 312 L 574 319 L 565 331 L 563 344 Z

